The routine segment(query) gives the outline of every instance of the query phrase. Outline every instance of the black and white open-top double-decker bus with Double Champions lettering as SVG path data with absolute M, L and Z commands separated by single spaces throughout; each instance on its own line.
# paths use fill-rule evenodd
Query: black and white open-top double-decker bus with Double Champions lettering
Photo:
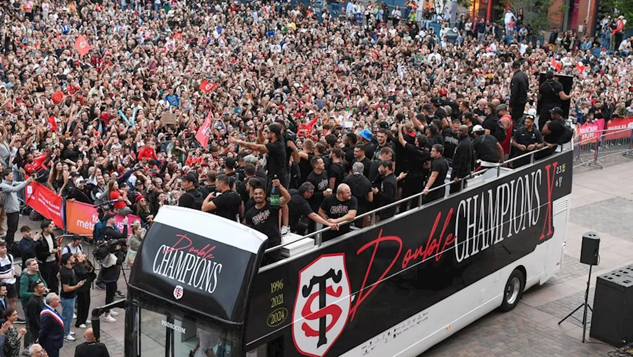
M 571 190 L 569 150 L 496 167 L 264 267 L 262 234 L 163 207 L 132 268 L 125 356 L 418 356 L 560 268 Z

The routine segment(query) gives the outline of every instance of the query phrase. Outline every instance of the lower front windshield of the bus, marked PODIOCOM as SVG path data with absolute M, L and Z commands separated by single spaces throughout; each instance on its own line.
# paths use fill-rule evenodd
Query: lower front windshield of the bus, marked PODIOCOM
M 128 314 L 134 356 L 232 357 L 239 353 L 239 330 L 225 329 L 199 315 L 142 300 L 135 300 Z

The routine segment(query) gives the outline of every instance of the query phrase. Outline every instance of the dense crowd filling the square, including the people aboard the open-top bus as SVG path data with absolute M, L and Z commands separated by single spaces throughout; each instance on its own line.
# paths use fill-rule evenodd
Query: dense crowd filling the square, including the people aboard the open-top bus
M 0 8 L 4 246 L 18 227 L 15 193 L 31 181 L 67 200 L 111 203 L 99 217 L 104 241 L 132 234 L 127 257 L 104 254 L 97 278 L 77 251 L 80 239 L 60 262 L 49 221 L 41 233 L 22 231 L 22 266 L 42 269 L 25 292 L 60 292 L 34 309 L 48 306 L 47 324 L 63 320 L 66 341 L 74 341 L 75 301 L 76 326 L 87 323 L 82 285 L 97 279 L 113 301 L 117 267 L 133 263 L 162 205 L 238 219 L 266 233 L 269 246 L 319 225 L 332 227 L 329 239 L 375 207 L 415 193 L 430 202 L 444 196 L 446 179 L 462 181 L 451 186 L 459 191 L 479 167 L 555 148 L 566 136 L 561 100 L 571 100 L 579 122 L 633 114 L 632 39 L 613 32 L 622 18 L 603 21 L 596 37 L 555 32 L 546 44 L 522 9 L 504 15 L 505 27 L 463 15 L 450 28 L 448 11 L 414 1 L 403 9 L 350 2 L 335 8 L 340 17 L 323 5 L 11 0 Z M 613 33 L 608 45 L 605 32 Z M 553 68 L 575 78 L 570 92 L 559 95 L 553 73 L 551 91 L 539 85 Z M 536 113 L 539 95 L 551 106 Z M 114 213 L 140 221 L 125 221 L 121 232 Z M 25 346 L 38 341 L 34 324 Z M 19 350 L 24 333 L 5 335 Z M 55 346 L 44 348 L 53 356 Z

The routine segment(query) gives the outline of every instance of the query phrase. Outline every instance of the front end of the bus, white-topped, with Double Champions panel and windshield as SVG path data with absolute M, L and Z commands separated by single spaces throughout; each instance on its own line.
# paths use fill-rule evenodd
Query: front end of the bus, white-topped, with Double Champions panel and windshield
M 222 217 L 163 207 L 135 258 L 126 356 L 240 356 L 266 236 Z

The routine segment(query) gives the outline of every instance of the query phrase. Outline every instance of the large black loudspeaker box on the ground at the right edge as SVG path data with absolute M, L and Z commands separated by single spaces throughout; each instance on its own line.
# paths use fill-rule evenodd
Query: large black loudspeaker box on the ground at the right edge
M 633 265 L 596 279 L 589 336 L 618 348 L 633 342 Z

